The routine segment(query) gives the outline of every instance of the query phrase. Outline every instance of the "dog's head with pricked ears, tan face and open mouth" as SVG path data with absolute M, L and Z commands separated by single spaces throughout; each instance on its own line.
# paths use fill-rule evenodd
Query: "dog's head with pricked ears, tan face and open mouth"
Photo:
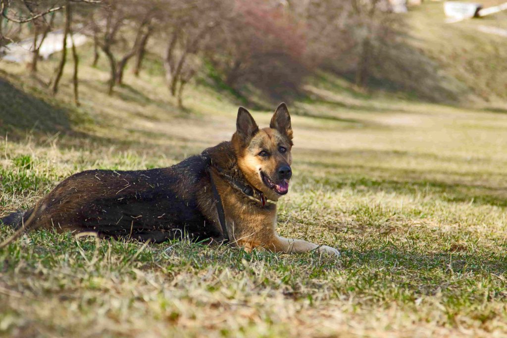
M 276 201 L 288 192 L 292 137 L 291 116 L 285 103 L 276 108 L 269 128 L 263 129 L 259 129 L 248 110 L 239 108 L 232 136 L 238 166 L 250 184 L 270 200 Z

